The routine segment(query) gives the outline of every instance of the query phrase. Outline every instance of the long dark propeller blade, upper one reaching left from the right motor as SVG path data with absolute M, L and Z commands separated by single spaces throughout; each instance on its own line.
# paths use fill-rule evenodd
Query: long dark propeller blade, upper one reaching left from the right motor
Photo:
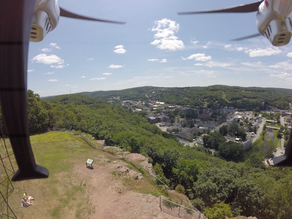
M 248 3 L 248 4 L 231 6 L 231 7 L 227 7 L 227 8 L 217 8 L 217 9 L 189 11 L 189 12 L 178 12 L 178 15 L 198 14 L 198 13 L 225 13 L 225 12 L 246 13 L 246 12 L 253 12 L 253 11 L 258 11 L 258 7 L 260 6 L 260 4 L 262 2 L 263 2 L 263 0 L 256 1 L 253 3 Z

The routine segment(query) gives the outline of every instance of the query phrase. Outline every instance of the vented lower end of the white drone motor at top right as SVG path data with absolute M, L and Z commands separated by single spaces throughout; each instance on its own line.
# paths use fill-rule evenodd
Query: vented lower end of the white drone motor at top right
M 291 39 L 291 31 L 289 18 L 274 19 L 269 22 L 263 35 L 269 39 L 273 46 L 284 46 Z

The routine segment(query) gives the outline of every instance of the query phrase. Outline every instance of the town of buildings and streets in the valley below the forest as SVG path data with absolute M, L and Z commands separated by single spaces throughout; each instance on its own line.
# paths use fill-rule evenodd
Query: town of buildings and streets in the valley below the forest
M 162 131 L 172 133 L 177 136 L 177 140 L 184 145 L 203 145 L 202 135 L 209 133 L 223 125 L 232 123 L 239 124 L 241 129 L 246 131 L 246 138 L 242 139 L 239 136 L 226 135 L 227 140 L 241 142 L 244 150 L 251 147 L 252 143 L 260 136 L 265 121 L 276 124 L 277 121 L 266 120 L 262 114 L 254 114 L 251 111 L 238 111 L 234 107 L 222 107 L 220 109 L 193 109 L 196 113 L 196 118 L 192 118 L 191 126 L 187 126 L 185 118 L 175 116 L 175 119 L 170 118 L 169 114 L 174 110 L 179 110 L 181 114 L 186 114 L 190 107 L 175 106 L 164 102 L 143 103 L 140 101 L 125 100 L 122 101 L 122 106 L 131 108 L 133 112 L 146 112 L 145 117 L 150 124 L 156 124 Z M 205 102 L 207 106 L 208 103 Z M 282 111 L 272 108 L 267 113 L 280 113 L 281 124 L 287 126 L 291 130 L 291 114 L 292 111 Z M 215 116 L 214 116 L 215 115 Z M 247 125 L 249 124 L 249 125 Z M 279 154 L 280 155 L 280 154 Z M 271 161 L 270 161 L 271 162 Z

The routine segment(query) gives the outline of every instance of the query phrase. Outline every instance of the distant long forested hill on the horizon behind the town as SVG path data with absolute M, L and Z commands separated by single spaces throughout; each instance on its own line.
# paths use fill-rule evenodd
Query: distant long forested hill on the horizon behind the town
M 259 107 L 260 110 L 269 107 L 289 109 L 289 102 L 292 100 L 291 89 L 224 85 L 183 88 L 145 86 L 119 91 L 94 91 L 80 94 L 104 100 L 160 101 L 191 108 L 203 107 L 204 103 L 207 102 L 208 108 L 218 109 L 221 106 L 232 106 L 245 110 L 253 110 L 256 107 Z M 49 98 L 51 97 L 44 99 Z

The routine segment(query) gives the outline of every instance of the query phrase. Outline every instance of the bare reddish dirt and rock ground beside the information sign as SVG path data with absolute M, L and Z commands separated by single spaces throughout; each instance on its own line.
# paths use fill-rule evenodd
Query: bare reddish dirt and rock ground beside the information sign
M 134 156 L 134 155 L 133 155 Z M 127 171 L 123 161 L 109 162 L 105 157 L 96 157 L 93 170 L 84 164 L 74 166 L 74 173 L 86 183 L 88 204 L 92 204 L 93 219 L 177 219 L 160 210 L 159 197 L 129 190 L 123 185 L 123 177 L 134 177 L 135 171 Z M 141 185 L 142 186 L 142 185 Z M 87 196 L 87 195 L 86 195 Z

